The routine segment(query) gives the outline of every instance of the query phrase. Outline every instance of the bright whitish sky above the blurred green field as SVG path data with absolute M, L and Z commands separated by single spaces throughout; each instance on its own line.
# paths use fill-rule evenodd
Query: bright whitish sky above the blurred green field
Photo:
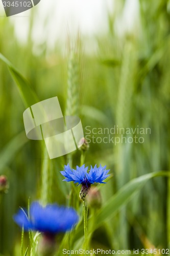
M 68 32 L 74 35 L 80 30 L 87 37 L 105 33 L 108 29 L 107 13 L 108 10 L 113 12 L 114 2 L 115 0 L 41 0 L 34 7 L 36 19 L 32 37 L 37 45 L 47 42 L 53 48 L 56 40 L 66 39 Z M 117 24 L 119 31 L 133 26 L 137 7 L 138 0 L 126 1 L 124 15 Z M 0 10 L 5 16 L 2 2 Z M 10 17 L 15 25 L 16 35 L 22 42 L 27 40 L 30 15 L 31 10 L 28 10 Z

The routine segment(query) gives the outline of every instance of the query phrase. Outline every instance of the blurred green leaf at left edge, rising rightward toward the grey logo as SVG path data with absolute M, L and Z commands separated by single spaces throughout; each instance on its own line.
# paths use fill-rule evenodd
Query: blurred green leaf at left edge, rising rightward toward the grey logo
M 15 154 L 20 148 L 25 145 L 29 139 L 26 137 L 26 133 L 21 132 L 14 137 L 0 152 L 0 174 L 3 168 L 12 160 Z

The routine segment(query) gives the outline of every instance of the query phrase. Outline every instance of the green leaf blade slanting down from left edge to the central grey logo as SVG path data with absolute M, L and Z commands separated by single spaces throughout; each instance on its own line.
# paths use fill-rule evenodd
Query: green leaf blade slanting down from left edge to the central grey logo
M 12 63 L 6 57 L 4 57 L 4 55 L 2 55 L 1 53 L 0 53 L 0 59 L 2 61 L 4 61 L 6 63 L 6 65 L 8 66 L 8 69 L 11 73 L 13 80 L 15 81 L 15 83 L 17 85 L 21 99 L 22 99 L 23 103 L 25 104 L 26 108 L 39 102 L 37 95 L 30 87 L 30 84 L 26 80 L 26 78 L 23 77 L 19 73 L 19 71 L 17 71 L 15 69 L 15 67 L 12 65 Z

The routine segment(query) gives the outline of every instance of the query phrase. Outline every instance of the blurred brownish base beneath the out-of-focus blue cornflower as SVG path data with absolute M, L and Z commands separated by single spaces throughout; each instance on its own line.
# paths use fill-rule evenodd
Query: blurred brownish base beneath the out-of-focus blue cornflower
M 38 244 L 38 255 L 53 256 L 56 252 L 55 235 L 43 233 Z

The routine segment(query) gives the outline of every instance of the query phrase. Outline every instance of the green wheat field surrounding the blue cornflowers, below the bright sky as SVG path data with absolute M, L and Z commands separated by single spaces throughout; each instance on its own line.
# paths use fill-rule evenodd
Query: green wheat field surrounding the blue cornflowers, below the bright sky
M 88 223 L 94 215 L 96 222 L 88 228 L 88 249 L 170 253 L 170 2 L 140 0 L 138 26 L 122 35 L 115 22 L 126 1 L 115 2 L 109 30 L 91 39 L 96 47 L 90 53 L 81 31 L 76 39 L 68 35 L 64 51 L 56 42 L 53 51 L 43 43 L 36 53 L 36 10 L 26 44 L 16 39 L 10 19 L 0 18 L 0 175 L 9 184 L 0 194 L 1 256 L 40 255 L 13 221 L 19 207 L 36 200 L 78 211 L 76 228 L 57 236 L 55 255 L 63 255 L 70 238 L 68 249 L 83 248 L 80 186 L 63 182 L 60 174 L 67 163 L 75 168 L 82 161 L 110 169 L 107 183 L 97 186 L 102 205 L 95 212 L 89 207 Z M 64 115 L 81 118 L 89 142 L 85 154 L 77 150 L 50 160 L 43 141 L 27 138 L 23 112 L 55 96 Z M 129 138 L 134 136 L 136 142 Z

